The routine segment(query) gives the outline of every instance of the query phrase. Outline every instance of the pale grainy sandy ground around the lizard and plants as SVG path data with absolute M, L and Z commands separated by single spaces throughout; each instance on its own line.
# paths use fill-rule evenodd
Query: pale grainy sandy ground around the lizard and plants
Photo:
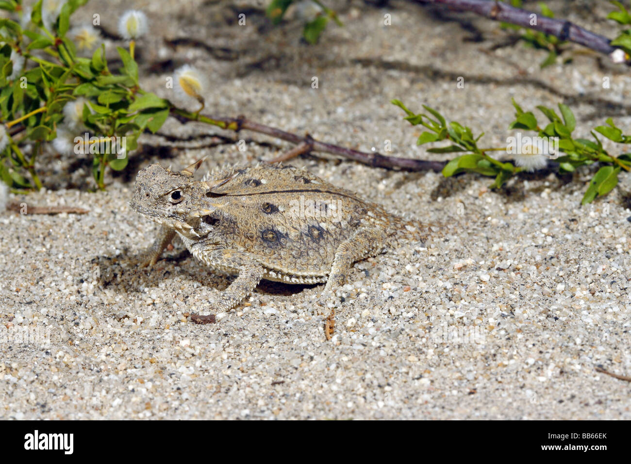
M 550 6 L 613 37 L 609 9 L 586 4 Z M 392 98 L 484 131 L 485 146 L 504 146 L 511 97 L 528 109 L 567 103 L 583 136 L 606 117 L 631 122 L 628 69 L 577 54 L 540 70 L 543 52 L 488 51 L 507 35 L 473 15 L 333 3 L 345 27 L 327 28 L 315 47 L 300 42 L 295 22 L 271 28 L 256 3 L 91 1 L 78 18 L 100 13 L 114 32 L 131 5 L 151 20 L 138 45 L 146 88 L 174 98 L 165 78 L 195 64 L 211 81 L 208 112 L 343 146 L 382 151 L 391 141 L 395 156 L 440 159 L 416 147 L 420 130 Z M 199 44 L 165 45 L 182 37 Z M 447 225 L 424 246 L 356 264 L 327 342 L 314 310 L 322 286 L 264 283 L 216 325 L 200 326 L 185 315 L 215 312 L 209 301 L 230 277 L 204 269 L 181 243 L 153 269 L 121 265 L 157 229 L 128 205 L 139 168 L 208 156 L 210 169 L 289 146 L 176 121 L 160 133 L 143 138 L 107 192 L 88 192 L 88 158 L 50 156 L 38 165 L 48 188 L 11 195 L 88 214 L 0 213 L 0 419 L 631 419 L 631 385 L 595 371 L 631 374 L 628 178 L 581 207 L 594 169 L 523 176 L 492 191 L 476 175 L 296 160 L 393 212 Z

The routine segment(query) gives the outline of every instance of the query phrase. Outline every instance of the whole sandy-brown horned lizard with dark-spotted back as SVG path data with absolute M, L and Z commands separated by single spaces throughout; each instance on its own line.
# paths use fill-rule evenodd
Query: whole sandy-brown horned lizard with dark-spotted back
M 424 241 L 427 227 L 386 212 L 290 165 L 232 168 L 195 180 L 201 161 L 176 172 L 139 171 L 131 207 L 160 233 L 141 255 L 153 265 L 177 234 L 192 255 L 237 278 L 211 303 L 227 311 L 261 279 L 289 284 L 345 284 L 353 263 L 400 239 Z

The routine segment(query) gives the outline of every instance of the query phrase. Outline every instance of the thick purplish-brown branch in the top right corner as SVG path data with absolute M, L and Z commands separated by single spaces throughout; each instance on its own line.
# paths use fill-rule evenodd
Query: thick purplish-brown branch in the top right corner
M 616 47 L 610 45 L 611 40 L 603 35 L 590 32 L 570 21 L 555 20 L 546 16 L 516 8 L 508 3 L 492 0 L 415 0 L 418 3 L 440 3 L 460 11 L 472 11 L 476 15 L 485 16 L 493 21 L 502 21 L 527 27 L 546 34 L 558 37 L 560 40 L 568 40 L 575 44 L 583 45 L 588 49 L 596 50 L 610 55 Z M 533 25 L 532 16 L 536 15 L 536 23 Z M 627 64 L 630 64 L 627 62 Z

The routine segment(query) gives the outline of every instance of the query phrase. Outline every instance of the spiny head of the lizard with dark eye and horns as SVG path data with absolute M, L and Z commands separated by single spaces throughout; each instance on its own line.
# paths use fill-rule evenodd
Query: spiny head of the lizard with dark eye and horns
M 212 212 L 204 201 L 208 183 L 193 178 L 202 161 L 180 172 L 158 164 L 147 166 L 136 176 L 136 192 L 130 206 L 155 223 L 186 236 L 199 236 L 196 232 L 199 217 Z

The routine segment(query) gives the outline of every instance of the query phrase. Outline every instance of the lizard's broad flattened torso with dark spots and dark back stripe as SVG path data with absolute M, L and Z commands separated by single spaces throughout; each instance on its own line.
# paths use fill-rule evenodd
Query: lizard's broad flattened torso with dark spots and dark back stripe
M 230 180 L 211 189 L 213 212 L 202 220 L 213 224 L 211 235 L 222 246 L 251 253 L 270 270 L 266 279 L 326 281 L 341 243 L 363 226 L 387 224 L 379 205 L 292 166 L 252 166 L 213 178 Z

